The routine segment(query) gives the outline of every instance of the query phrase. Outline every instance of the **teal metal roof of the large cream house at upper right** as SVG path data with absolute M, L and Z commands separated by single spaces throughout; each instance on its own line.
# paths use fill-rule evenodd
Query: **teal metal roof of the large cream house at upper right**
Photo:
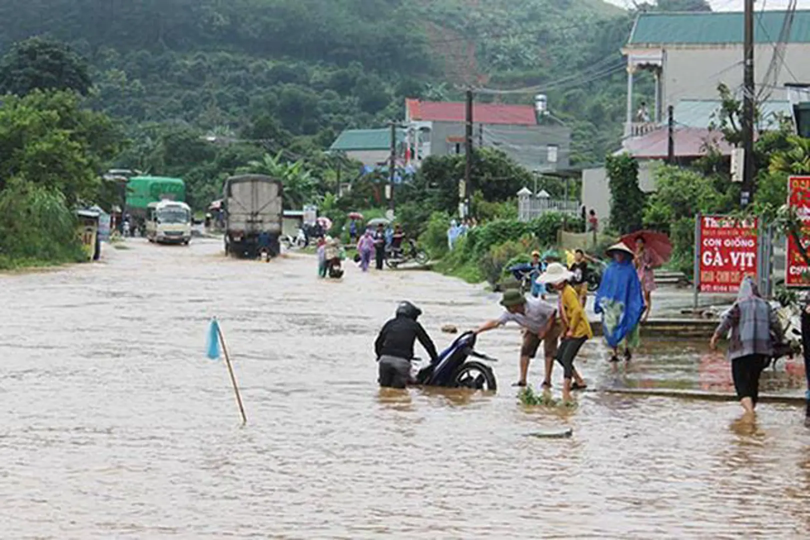
M 779 39 L 785 11 L 757 11 L 754 40 Z M 742 12 L 642 13 L 627 45 L 713 45 L 743 42 Z M 810 11 L 796 11 L 788 43 L 810 43 Z

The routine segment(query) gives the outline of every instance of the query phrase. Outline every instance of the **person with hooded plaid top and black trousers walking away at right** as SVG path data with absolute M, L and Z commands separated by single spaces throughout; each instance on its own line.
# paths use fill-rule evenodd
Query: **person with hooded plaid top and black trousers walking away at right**
M 717 349 L 718 339 L 731 330 L 728 344 L 728 359 L 731 360 L 731 376 L 737 398 L 745 410 L 744 419 L 754 416 L 759 397 L 759 378 L 762 370 L 774 354 L 771 332 L 781 337 L 782 329 L 771 314 L 770 304 L 762 300 L 750 277 L 740 283 L 737 301 L 723 314 L 723 321 L 714 330 L 710 347 Z

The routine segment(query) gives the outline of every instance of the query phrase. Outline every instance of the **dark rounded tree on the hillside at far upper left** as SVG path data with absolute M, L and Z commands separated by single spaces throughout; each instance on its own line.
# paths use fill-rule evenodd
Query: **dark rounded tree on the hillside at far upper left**
M 87 95 L 87 63 L 68 45 L 39 37 L 16 43 L 0 60 L 0 92 L 25 96 L 33 90 L 73 90 Z

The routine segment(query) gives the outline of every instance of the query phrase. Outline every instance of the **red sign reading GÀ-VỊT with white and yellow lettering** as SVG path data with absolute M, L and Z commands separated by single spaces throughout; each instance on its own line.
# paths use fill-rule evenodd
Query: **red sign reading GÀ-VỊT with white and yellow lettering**
M 757 219 L 701 216 L 701 292 L 736 292 L 757 275 Z

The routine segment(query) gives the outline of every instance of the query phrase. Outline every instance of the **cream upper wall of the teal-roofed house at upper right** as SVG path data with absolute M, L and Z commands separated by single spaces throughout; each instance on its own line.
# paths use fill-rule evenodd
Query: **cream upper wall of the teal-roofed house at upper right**
M 774 36 L 776 39 L 777 36 Z M 754 49 L 754 80 L 757 91 L 768 70 L 774 46 L 757 45 Z M 810 82 L 810 44 L 791 43 L 785 47 L 785 66 L 779 70 L 778 88 L 773 89 L 772 100 L 787 100 L 784 83 Z M 731 91 L 743 84 L 743 46 L 711 45 L 702 47 L 670 47 L 663 55 L 663 106 L 675 105 L 679 100 L 717 100 L 718 83 L 726 83 Z M 765 94 L 770 89 L 765 90 Z M 741 93 L 738 94 L 742 99 Z

